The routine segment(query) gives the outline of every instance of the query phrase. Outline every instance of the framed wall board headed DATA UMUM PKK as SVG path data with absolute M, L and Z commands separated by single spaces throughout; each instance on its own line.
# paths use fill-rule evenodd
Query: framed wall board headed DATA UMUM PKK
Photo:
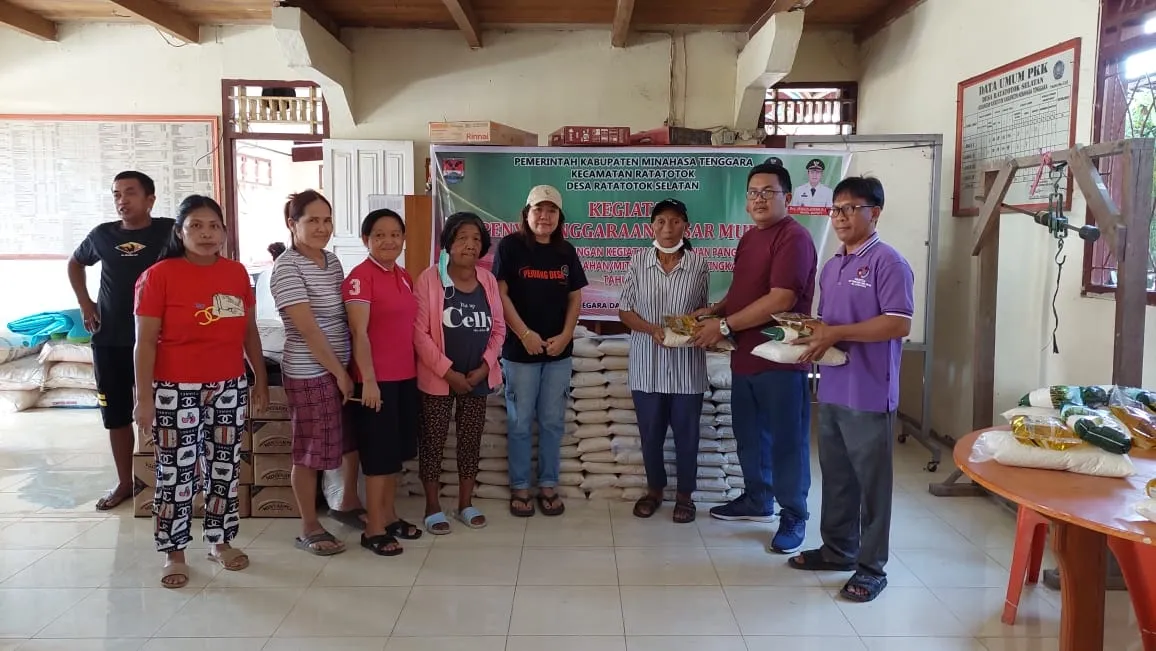
M 956 216 L 979 214 L 984 170 L 1007 158 L 1075 146 L 1080 39 L 1029 54 L 959 83 L 956 97 Z M 1016 172 L 1005 201 L 1039 209 L 1047 206 L 1052 182 L 1045 172 L 1036 192 L 1036 169 Z M 1060 182 L 1066 209 L 1072 207 L 1070 173 Z

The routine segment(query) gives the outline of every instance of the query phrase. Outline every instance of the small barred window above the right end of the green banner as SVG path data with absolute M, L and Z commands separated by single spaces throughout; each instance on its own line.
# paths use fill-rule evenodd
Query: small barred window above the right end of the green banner
M 793 83 L 766 90 L 763 119 L 769 145 L 788 135 L 852 135 L 857 83 Z

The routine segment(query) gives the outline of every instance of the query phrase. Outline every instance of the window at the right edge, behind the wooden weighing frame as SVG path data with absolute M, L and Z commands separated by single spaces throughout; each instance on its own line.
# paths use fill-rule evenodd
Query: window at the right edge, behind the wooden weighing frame
M 1124 6 L 1127 5 L 1127 8 Z M 1096 142 L 1156 138 L 1156 14 L 1154 2 L 1101 0 L 1099 58 L 1096 75 Z M 1099 160 L 1099 173 L 1120 205 L 1124 183 L 1119 156 Z M 1156 180 L 1156 178 L 1154 178 Z M 1091 212 L 1088 223 L 1095 222 Z M 1156 228 L 1149 235 L 1148 303 L 1156 304 Z M 1084 294 L 1114 294 L 1116 254 L 1107 242 L 1084 244 Z

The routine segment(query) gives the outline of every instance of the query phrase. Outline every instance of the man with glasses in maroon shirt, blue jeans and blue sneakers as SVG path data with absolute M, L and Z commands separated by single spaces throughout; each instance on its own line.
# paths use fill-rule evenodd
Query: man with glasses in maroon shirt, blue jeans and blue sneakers
M 810 313 L 815 294 L 815 243 L 787 216 L 791 175 L 763 163 L 747 176 L 747 214 L 755 228 L 739 241 L 731 289 L 709 308 L 721 316 L 704 324 L 697 343 L 711 346 L 733 334 L 731 407 L 746 489 L 711 509 L 721 520 L 771 521 L 781 506 L 771 549 L 790 554 L 802 546 L 810 489 L 810 364 L 777 364 L 751 350 L 766 341 L 759 331 L 779 312 Z M 771 483 L 773 478 L 775 482 Z

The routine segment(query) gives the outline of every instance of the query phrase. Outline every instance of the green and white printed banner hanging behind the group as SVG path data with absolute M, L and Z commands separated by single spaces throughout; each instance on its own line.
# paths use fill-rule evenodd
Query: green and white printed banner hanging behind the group
M 433 259 L 445 217 L 480 215 L 497 241 L 516 231 L 526 195 L 535 185 L 562 192 L 565 236 L 578 249 L 590 287 L 583 318 L 617 319 L 618 294 L 630 257 L 650 247 L 650 210 L 679 199 L 690 213 L 687 238 L 711 268 L 711 301 L 731 287 L 739 238 L 754 228 L 747 215 L 747 172 L 777 158 L 791 172 L 790 213 L 822 250 L 830 230 L 831 188 L 844 177 L 850 154 L 763 148 L 513 148 L 433 146 Z M 492 264 L 492 251 L 483 265 Z

